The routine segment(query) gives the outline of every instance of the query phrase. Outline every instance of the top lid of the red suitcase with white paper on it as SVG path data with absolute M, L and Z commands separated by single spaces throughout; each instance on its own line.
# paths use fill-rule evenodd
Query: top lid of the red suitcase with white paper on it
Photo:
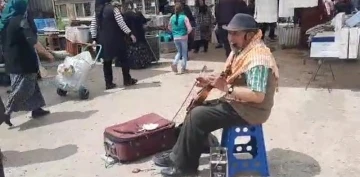
M 161 117 L 158 114 L 150 113 L 137 119 L 108 127 L 105 129 L 105 132 L 120 139 L 132 139 L 172 128 L 174 126 L 175 123 Z

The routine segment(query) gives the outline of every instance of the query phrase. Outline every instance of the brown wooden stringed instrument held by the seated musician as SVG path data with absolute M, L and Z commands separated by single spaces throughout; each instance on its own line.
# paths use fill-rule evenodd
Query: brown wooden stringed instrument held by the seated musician
M 227 79 L 231 74 L 232 74 L 232 72 L 231 72 L 231 64 L 230 64 L 226 67 L 225 71 L 221 72 L 220 77 Z M 213 88 L 214 88 L 214 86 L 211 84 L 207 84 L 205 87 L 201 88 L 197 92 L 196 97 L 191 100 L 189 106 L 186 108 L 186 111 L 189 112 L 196 106 L 202 105 L 204 103 L 204 101 L 206 100 L 206 98 L 209 96 L 209 94 Z

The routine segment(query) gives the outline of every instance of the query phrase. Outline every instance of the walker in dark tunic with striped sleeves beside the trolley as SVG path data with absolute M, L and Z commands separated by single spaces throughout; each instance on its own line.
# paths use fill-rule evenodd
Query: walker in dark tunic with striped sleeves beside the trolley
M 116 84 L 113 83 L 113 60 L 116 60 L 116 63 L 121 63 L 124 85 L 136 84 L 137 80 L 130 75 L 125 43 L 127 36 L 131 38 L 132 42 L 136 42 L 136 37 L 126 25 L 120 9 L 113 5 L 111 0 L 95 1 L 95 15 L 91 21 L 90 31 L 94 42 L 103 46 L 103 70 L 106 89 L 116 87 Z

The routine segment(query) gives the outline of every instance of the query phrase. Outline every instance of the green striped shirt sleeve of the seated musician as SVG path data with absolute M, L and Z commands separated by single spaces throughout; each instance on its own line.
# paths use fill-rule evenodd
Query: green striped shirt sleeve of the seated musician
M 258 65 L 245 72 L 246 83 L 249 89 L 254 92 L 266 93 L 266 86 L 269 77 L 269 69 Z

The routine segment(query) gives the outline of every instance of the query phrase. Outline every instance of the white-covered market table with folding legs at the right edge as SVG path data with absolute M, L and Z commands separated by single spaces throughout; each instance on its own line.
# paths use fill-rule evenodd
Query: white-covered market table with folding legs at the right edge
M 332 78 L 335 75 L 331 60 L 358 60 L 360 58 L 360 12 L 351 15 L 338 13 L 330 22 L 317 25 L 307 31 L 310 42 L 310 58 L 317 59 L 319 66 L 311 80 L 315 80 L 321 66 L 329 65 Z M 330 91 L 330 89 L 329 89 Z

